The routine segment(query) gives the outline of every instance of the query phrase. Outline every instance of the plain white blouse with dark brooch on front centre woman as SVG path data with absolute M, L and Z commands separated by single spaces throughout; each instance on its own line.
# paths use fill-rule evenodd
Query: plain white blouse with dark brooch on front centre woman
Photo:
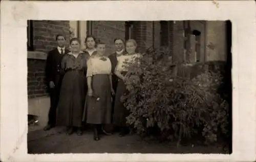
M 101 60 L 101 59 L 105 60 Z M 111 62 L 108 57 L 91 56 L 87 62 L 87 76 L 111 74 Z

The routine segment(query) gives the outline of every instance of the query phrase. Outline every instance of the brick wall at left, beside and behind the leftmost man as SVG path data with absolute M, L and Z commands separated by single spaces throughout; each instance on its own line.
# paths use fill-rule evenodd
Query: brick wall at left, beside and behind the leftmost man
M 67 35 L 67 39 L 69 39 L 68 21 L 34 21 L 33 30 L 34 51 L 47 53 L 54 49 L 57 46 L 55 41 L 57 34 Z M 29 98 L 47 95 L 45 62 L 46 60 L 28 59 Z

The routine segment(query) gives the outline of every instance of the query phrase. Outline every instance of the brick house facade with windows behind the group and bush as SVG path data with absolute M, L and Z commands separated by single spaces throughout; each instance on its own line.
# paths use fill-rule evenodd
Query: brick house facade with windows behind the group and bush
M 29 21 L 29 113 L 38 115 L 41 109 L 48 110 L 49 97 L 47 97 L 44 70 L 47 52 L 57 46 L 55 41 L 57 34 L 66 35 L 69 42 L 72 29 L 73 36 L 80 37 L 81 43 L 84 42 L 86 35 L 94 35 L 106 43 L 109 54 L 114 52 L 115 38 L 133 38 L 137 41 L 140 52 L 152 46 L 154 48 L 168 46 L 175 62 L 183 62 L 187 59 L 190 62 L 205 62 L 226 59 L 225 28 L 225 22 L 190 21 L 191 34 L 188 35 L 186 32 L 188 24 L 184 21 Z M 196 34 L 193 35 L 194 33 Z M 193 52 L 190 58 L 185 56 L 188 42 Z

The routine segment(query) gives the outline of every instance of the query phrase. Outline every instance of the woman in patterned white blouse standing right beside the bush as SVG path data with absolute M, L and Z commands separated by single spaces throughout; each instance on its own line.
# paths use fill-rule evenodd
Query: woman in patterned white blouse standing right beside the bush
M 129 110 L 124 107 L 121 102 L 121 96 L 126 92 L 125 75 L 128 72 L 125 62 L 134 62 L 141 55 L 135 53 L 137 44 L 134 39 L 129 39 L 125 43 L 126 54 L 117 57 L 118 63 L 115 69 L 116 76 L 119 77 L 119 82 L 116 90 L 115 106 L 114 106 L 114 124 L 120 128 L 119 136 L 124 136 L 129 133 L 129 128 L 126 124 L 126 117 L 129 115 Z

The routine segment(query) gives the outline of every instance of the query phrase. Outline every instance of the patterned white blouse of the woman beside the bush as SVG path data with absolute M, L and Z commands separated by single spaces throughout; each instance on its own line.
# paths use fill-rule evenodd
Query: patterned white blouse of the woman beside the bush
M 141 55 L 139 53 L 132 54 L 132 55 L 120 55 L 117 56 L 117 66 L 115 71 L 128 71 L 128 69 L 125 67 L 127 66 L 127 63 L 134 63 L 135 59 L 140 57 Z

